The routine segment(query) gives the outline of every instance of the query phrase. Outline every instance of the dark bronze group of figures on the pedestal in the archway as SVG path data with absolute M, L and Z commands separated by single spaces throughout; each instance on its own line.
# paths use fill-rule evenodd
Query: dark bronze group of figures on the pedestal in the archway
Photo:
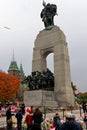
M 23 83 L 28 83 L 30 90 L 53 90 L 54 75 L 49 69 L 42 72 L 34 71 L 24 79 Z

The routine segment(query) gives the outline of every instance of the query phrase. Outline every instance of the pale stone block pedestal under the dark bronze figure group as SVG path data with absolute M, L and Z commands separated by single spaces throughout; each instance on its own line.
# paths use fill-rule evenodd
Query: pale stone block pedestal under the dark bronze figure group
M 54 91 L 35 90 L 24 92 L 25 106 L 58 106 Z

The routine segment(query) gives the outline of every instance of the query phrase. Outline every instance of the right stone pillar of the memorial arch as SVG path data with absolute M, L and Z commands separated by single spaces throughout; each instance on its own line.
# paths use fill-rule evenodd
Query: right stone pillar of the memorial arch
M 70 62 L 67 43 L 60 41 L 54 48 L 54 92 L 59 106 L 74 106 L 74 95 L 71 88 Z

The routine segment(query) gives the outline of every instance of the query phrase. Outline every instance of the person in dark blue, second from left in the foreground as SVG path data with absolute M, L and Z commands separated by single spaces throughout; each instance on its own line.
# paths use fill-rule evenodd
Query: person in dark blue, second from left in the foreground
M 22 130 L 22 112 L 21 109 L 18 110 L 18 112 L 16 113 L 15 117 L 17 118 L 17 130 Z

